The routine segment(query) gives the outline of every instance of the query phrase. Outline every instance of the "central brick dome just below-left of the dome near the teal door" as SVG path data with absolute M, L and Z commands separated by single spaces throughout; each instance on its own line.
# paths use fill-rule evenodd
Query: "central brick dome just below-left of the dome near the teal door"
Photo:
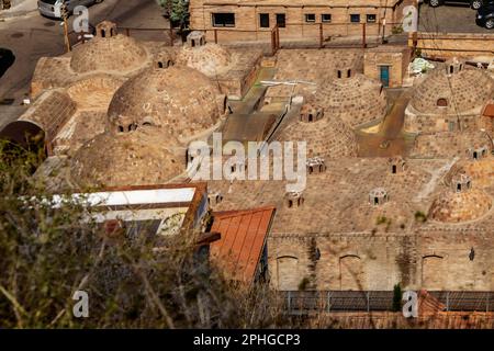
M 324 112 L 315 122 L 299 120 L 290 124 L 279 136 L 279 140 L 306 141 L 307 157 L 335 159 L 357 157 L 358 144 L 351 131 L 337 115 Z

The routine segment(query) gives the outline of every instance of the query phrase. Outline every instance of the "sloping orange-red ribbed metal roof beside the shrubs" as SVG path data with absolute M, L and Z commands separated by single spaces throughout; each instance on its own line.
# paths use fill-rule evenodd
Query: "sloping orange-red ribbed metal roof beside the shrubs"
M 211 231 L 221 239 L 211 245 L 211 256 L 236 281 L 251 283 L 268 237 L 274 207 L 214 213 Z

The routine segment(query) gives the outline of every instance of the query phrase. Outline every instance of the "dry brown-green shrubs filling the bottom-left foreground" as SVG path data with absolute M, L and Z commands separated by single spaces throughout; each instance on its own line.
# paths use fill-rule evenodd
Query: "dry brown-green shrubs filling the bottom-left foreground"
M 38 156 L 0 147 L 0 320 L 2 328 L 283 327 L 276 294 L 226 280 L 198 258 L 197 233 L 164 239 L 136 228 L 109 234 L 83 203 L 53 208 Z M 89 295 L 76 318 L 72 296 Z

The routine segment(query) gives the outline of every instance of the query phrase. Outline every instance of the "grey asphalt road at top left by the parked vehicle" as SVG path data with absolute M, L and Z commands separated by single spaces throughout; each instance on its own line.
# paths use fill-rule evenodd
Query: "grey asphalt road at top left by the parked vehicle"
M 90 23 L 97 24 L 102 20 L 114 21 L 124 27 L 162 29 L 169 25 L 155 0 L 105 0 L 90 8 Z M 71 27 L 71 22 L 69 25 Z M 29 94 L 29 84 L 40 57 L 64 54 L 63 27 L 59 21 L 37 12 L 9 19 L 0 22 L 0 46 L 11 49 L 16 57 L 14 65 L 0 78 L 0 101 L 15 99 L 12 106 L 0 105 L 1 128 L 24 110 L 20 103 Z

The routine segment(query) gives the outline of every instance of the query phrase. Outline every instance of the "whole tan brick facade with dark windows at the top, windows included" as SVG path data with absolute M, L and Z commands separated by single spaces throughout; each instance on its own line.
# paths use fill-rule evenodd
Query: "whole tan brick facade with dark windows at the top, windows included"
M 190 26 L 221 42 L 382 35 L 400 25 L 413 0 L 191 0 Z M 385 21 L 384 21 L 385 19 Z M 388 27 L 384 29 L 386 24 Z

